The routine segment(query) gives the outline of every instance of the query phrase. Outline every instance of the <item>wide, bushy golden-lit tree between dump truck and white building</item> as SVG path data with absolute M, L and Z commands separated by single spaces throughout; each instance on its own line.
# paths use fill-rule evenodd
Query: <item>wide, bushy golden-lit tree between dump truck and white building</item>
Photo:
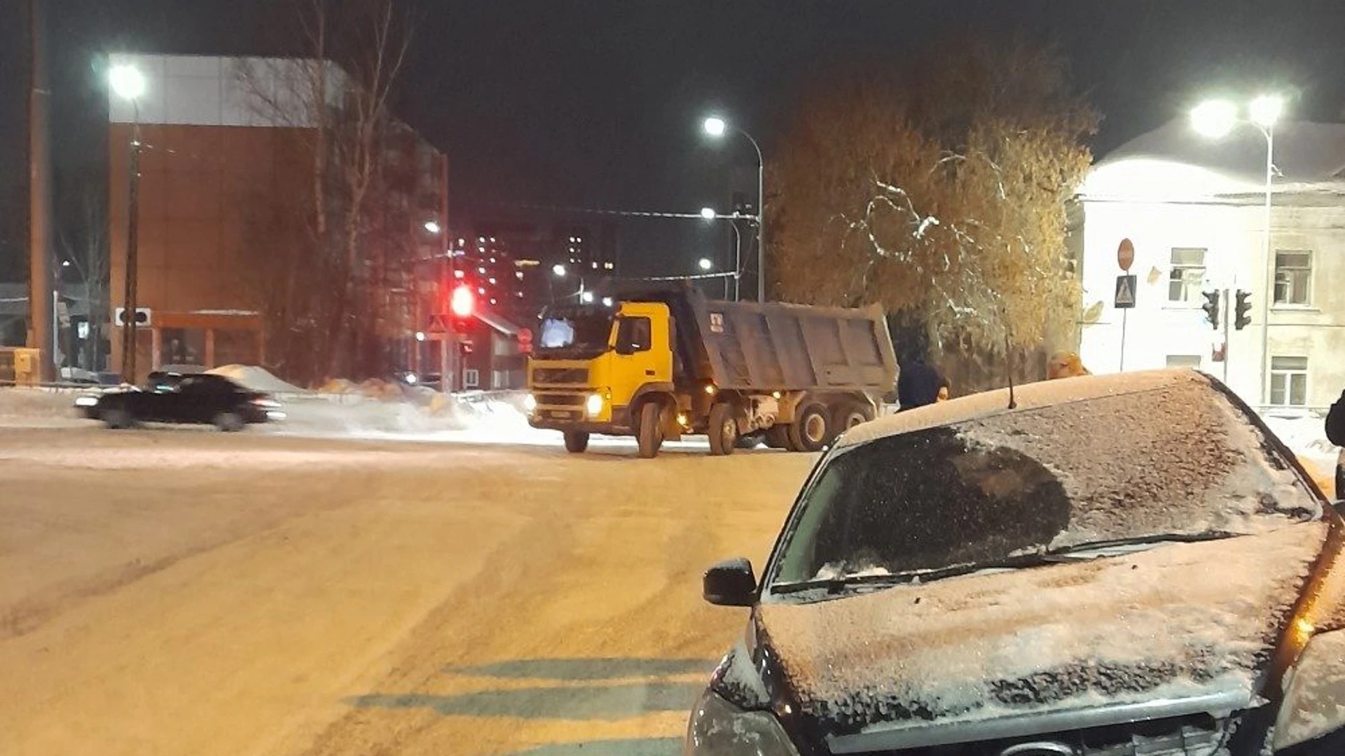
M 780 292 L 881 303 L 944 352 L 1038 350 L 1077 319 L 1065 210 L 1096 116 L 1049 48 L 933 50 L 800 102 L 773 165 Z

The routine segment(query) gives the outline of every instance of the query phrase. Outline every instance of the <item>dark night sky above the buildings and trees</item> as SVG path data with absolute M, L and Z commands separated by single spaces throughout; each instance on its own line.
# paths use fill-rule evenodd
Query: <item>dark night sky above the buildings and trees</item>
M 47 1 L 62 176 L 104 160 L 90 128 L 104 117 L 97 51 L 276 51 L 277 12 L 288 5 Z M 24 17 L 26 0 L 0 4 L 7 22 Z M 397 109 L 449 152 L 459 218 L 488 219 L 495 202 L 722 206 L 729 165 L 749 164 L 751 147 L 706 143 L 703 113 L 736 118 L 769 152 L 803 75 L 857 54 L 900 59 L 968 24 L 1056 40 L 1106 116 L 1099 151 L 1217 87 L 1290 87 L 1295 114 L 1314 120 L 1345 109 L 1338 0 L 420 0 L 416 12 Z M 13 207 L 26 175 L 22 24 L 0 24 L 0 207 Z M 23 217 L 12 215 L 0 218 L 0 239 L 22 239 Z M 671 257 L 705 243 L 693 221 L 631 230 L 627 254 L 651 272 L 683 270 Z M 12 270 L 0 260 L 0 274 Z

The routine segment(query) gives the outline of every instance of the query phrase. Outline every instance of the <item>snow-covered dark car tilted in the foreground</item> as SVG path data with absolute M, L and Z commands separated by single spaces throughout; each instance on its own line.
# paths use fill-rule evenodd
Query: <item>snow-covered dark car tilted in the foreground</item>
M 1194 371 L 991 391 L 818 463 L 698 756 L 1345 753 L 1345 521 Z

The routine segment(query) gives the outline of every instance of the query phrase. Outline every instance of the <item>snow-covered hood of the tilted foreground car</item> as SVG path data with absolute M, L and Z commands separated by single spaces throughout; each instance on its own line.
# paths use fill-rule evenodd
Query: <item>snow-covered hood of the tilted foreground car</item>
M 1217 700 L 1232 710 L 1255 698 L 1326 530 L 1310 522 L 831 601 L 764 603 L 757 627 L 784 695 L 838 752 L 863 739 L 929 745 L 943 725 L 1153 701 Z M 1209 710 L 1189 709 L 1166 712 Z

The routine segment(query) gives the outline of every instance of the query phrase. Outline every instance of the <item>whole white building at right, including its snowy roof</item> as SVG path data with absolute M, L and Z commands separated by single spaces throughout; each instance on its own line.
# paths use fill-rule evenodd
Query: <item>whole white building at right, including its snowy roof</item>
M 1276 126 L 1270 245 L 1267 140 L 1223 140 L 1185 120 L 1123 145 L 1091 171 L 1083 210 L 1084 324 L 1093 373 L 1193 366 L 1256 408 L 1325 408 L 1345 389 L 1345 125 Z M 1135 307 L 1114 307 L 1116 250 L 1131 239 Z M 1271 250 L 1267 254 L 1267 246 Z M 1274 287 L 1270 285 L 1274 281 Z M 1216 330 L 1202 292 L 1251 293 L 1251 323 Z M 1268 301 L 1267 301 L 1268 297 Z M 1124 354 L 1122 354 L 1124 323 Z

